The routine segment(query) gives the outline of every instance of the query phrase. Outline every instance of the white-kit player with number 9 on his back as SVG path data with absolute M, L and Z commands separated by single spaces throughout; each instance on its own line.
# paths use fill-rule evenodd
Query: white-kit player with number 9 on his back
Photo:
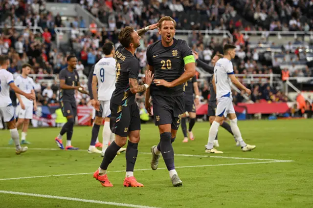
M 104 118 L 104 126 L 102 131 L 102 151 L 95 150 L 96 153 L 104 153 L 109 146 L 109 142 L 113 142 L 115 135 L 110 129 L 110 100 L 112 93 L 115 90 L 116 83 L 116 69 L 115 69 L 115 48 L 112 42 L 106 42 L 103 45 L 103 52 L 105 58 L 102 58 L 94 66 L 93 77 L 92 77 L 92 101 L 94 108 L 97 111 L 102 110 L 102 118 Z M 98 86 L 98 88 L 97 88 Z M 101 105 L 101 107 L 100 107 Z M 94 146 L 89 146 L 89 151 L 95 149 Z M 126 148 L 120 148 L 119 152 L 125 151 Z

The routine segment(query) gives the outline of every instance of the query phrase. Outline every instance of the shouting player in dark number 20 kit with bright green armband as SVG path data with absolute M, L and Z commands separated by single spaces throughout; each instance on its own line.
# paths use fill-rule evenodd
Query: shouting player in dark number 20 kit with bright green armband
M 151 115 L 152 95 L 153 114 L 160 133 L 160 142 L 151 147 L 151 168 L 156 170 L 162 153 L 174 187 L 182 186 L 174 165 L 172 143 L 184 113 L 184 83 L 195 76 L 195 58 L 187 42 L 174 39 L 176 21 L 163 17 L 158 21 L 161 40 L 147 49 L 149 70 L 155 74 L 151 90 L 146 92 L 145 107 Z

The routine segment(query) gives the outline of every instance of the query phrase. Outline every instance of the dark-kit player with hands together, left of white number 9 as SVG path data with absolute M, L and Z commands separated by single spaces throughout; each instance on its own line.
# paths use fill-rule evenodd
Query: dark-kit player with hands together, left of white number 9
M 81 93 L 88 94 L 84 87 L 80 86 L 79 76 L 76 71 L 77 58 L 73 55 L 67 57 L 67 68 L 60 71 L 60 95 L 59 102 L 61 104 L 63 116 L 67 117 L 67 123 L 63 125 L 59 135 L 54 139 L 60 149 L 64 149 L 62 143 L 62 136 L 67 133 L 66 150 L 77 150 L 78 148 L 71 145 L 73 126 L 75 124 L 75 117 L 77 115 L 75 89 Z

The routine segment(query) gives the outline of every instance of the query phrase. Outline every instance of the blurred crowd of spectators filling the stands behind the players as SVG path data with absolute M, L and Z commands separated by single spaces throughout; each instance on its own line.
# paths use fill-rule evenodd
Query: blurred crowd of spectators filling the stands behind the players
M 53 1 L 55 2 L 55 1 Z M 78 2 L 72 0 L 58 0 L 58 2 Z M 188 35 L 188 44 L 194 51 L 199 53 L 199 59 L 210 63 L 212 55 L 223 53 L 225 43 L 237 45 L 237 56 L 234 60 L 234 71 L 243 74 L 270 74 L 279 69 L 279 62 L 273 60 L 268 65 L 260 60 L 260 54 L 256 49 L 251 49 L 249 39 L 241 30 L 304 30 L 313 31 L 313 20 L 303 22 L 302 19 L 313 8 L 311 0 L 80 0 L 92 15 L 108 25 L 101 31 L 94 29 L 97 25 L 92 22 L 86 25 L 82 17 L 76 17 L 72 21 L 62 21 L 61 16 L 46 10 L 45 0 L 4 0 L 0 3 L 0 20 L 3 27 L 0 30 L 0 54 L 7 54 L 11 59 L 9 71 L 18 76 L 23 63 L 30 63 L 32 74 L 37 74 L 36 92 L 38 104 L 56 104 L 58 101 L 58 84 L 42 82 L 54 80 L 60 70 L 67 66 L 66 57 L 70 52 L 63 53 L 55 47 L 55 27 L 69 26 L 70 45 L 72 53 L 75 53 L 79 62 L 77 71 L 80 76 L 88 76 L 90 67 L 103 57 L 101 45 L 112 41 L 118 46 L 118 31 L 125 25 L 135 28 L 152 24 L 164 15 L 171 15 L 177 22 L 177 29 L 194 30 Z M 244 5 L 243 16 L 238 16 L 238 5 Z M 253 13 L 254 24 L 246 21 Z M 301 16 L 301 18 L 300 18 Z M 239 17 L 239 18 L 238 18 Z M 250 19 L 249 19 L 250 20 Z M 264 22 L 271 21 L 270 24 Z M 287 23 L 287 25 L 286 25 Z M 15 26 L 15 27 L 13 27 Z M 17 26 L 26 26 L 20 29 Z M 44 31 L 32 30 L 30 26 L 39 26 Z M 87 32 L 81 32 L 78 28 L 90 27 Z M 228 30 L 233 35 L 230 38 L 221 39 L 207 38 L 197 29 Z M 141 73 L 146 69 L 146 49 L 149 44 L 160 39 L 157 33 L 148 33 L 143 37 L 143 44 L 136 51 L 140 60 Z M 297 40 L 295 40 L 297 41 Z M 298 49 L 285 46 L 284 54 L 297 55 Z M 288 58 L 288 56 L 286 56 Z M 291 60 L 296 62 L 297 59 Z M 276 70 L 277 71 L 277 70 Z M 312 75 L 311 69 L 297 69 L 291 72 L 291 76 Z M 201 78 L 201 75 L 198 75 Z M 206 79 L 206 78 L 205 78 Z M 85 83 L 83 83 L 85 84 Z M 208 79 L 199 84 L 202 101 L 206 102 L 209 92 Z M 250 83 L 252 90 L 248 102 L 283 102 L 287 97 L 279 90 L 271 87 L 268 83 Z M 242 93 L 234 92 L 234 102 L 247 102 Z M 89 98 L 77 92 L 77 104 L 87 104 Z M 137 95 L 138 102 L 143 99 Z

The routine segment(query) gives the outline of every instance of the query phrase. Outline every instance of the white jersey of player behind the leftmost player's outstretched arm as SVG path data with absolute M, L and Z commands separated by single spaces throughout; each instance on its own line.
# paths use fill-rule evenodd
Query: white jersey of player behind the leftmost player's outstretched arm
M 31 90 L 35 89 L 35 83 L 33 79 L 30 77 L 23 78 L 22 75 L 20 75 L 15 79 L 14 82 L 15 82 L 15 85 L 17 85 L 25 93 L 31 93 Z M 23 95 L 20 95 L 20 96 L 25 106 L 33 106 L 34 102 L 32 100 L 28 100 Z M 17 99 L 17 102 L 19 103 L 18 99 Z

